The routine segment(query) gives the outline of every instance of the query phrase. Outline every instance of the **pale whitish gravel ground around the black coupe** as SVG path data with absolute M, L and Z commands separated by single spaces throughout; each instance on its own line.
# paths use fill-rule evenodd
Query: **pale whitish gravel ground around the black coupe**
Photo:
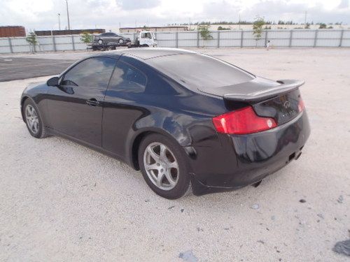
M 350 50 L 207 52 L 306 80 L 302 157 L 258 188 L 169 201 L 124 163 L 29 136 L 19 97 L 48 77 L 1 82 L 0 261 L 349 261 L 332 247 L 350 238 Z

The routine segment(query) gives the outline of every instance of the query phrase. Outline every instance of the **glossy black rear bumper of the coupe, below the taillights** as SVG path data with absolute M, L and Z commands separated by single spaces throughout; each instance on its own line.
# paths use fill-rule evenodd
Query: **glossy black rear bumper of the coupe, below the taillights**
M 202 166 L 192 161 L 193 193 L 230 191 L 259 182 L 300 157 L 309 134 L 306 111 L 269 131 L 236 136 L 219 134 L 220 147 L 214 150 L 195 147 L 195 162 Z

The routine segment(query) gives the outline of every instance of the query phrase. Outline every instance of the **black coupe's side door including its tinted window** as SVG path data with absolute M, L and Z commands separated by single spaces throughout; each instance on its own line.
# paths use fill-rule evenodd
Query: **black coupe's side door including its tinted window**
M 102 146 L 104 95 L 116 59 L 92 57 L 80 61 L 50 87 L 48 111 L 52 129 L 90 145 Z

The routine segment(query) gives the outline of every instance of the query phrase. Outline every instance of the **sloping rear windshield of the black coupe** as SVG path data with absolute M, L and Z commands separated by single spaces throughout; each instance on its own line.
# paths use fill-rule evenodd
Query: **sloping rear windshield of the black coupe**
M 252 80 L 254 75 L 205 54 L 176 54 L 155 57 L 149 64 L 190 88 L 215 88 Z

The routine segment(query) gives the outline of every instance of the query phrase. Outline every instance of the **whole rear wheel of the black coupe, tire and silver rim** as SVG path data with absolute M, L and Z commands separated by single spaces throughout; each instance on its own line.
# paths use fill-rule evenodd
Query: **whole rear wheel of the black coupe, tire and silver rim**
M 144 180 L 159 196 L 176 199 L 190 193 L 186 153 L 176 142 L 157 133 L 146 136 L 139 146 L 138 159 Z

